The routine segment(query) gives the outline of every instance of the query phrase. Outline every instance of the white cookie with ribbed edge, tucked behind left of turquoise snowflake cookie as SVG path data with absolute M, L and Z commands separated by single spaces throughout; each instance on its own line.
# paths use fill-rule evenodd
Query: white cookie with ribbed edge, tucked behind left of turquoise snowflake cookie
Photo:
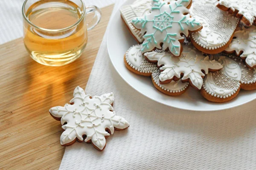
M 163 0 L 165 2 L 169 2 L 171 0 Z M 152 0 L 136 0 L 131 5 L 125 5 L 120 7 L 120 13 L 122 20 L 125 22 L 125 25 L 128 27 L 129 31 L 137 40 L 137 42 L 141 43 L 144 41 L 143 35 L 140 30 L 135 28 L 131 24 L 131 20 L 135 17 L 143 17 L 145 14 L 148 14 L 152 8 Z

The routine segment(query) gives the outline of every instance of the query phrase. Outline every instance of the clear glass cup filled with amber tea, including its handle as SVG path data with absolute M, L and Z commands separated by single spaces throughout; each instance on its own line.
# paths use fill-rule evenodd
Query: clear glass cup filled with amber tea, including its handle
M 86 15 L 94 12 L 92 21 Z M 22 7 L 23 41 L 29 55 L 43 65 L 61 66 L 81 56 L 87 30 L 101 18 L 96 6 L 83 0 L 25 0 Z

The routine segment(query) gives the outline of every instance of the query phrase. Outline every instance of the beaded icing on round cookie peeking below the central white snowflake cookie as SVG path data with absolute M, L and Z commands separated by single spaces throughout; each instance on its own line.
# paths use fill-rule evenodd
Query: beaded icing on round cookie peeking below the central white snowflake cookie
M 160 88 L 162 88 L 165 91 L 168 91 L 170 93 L 179 93 L 181 91 L 184 91 L 189 86 L 188 82 L 183 83 L 181 80 L 178 80 L 177 82 L 172 81 L 168 84 L 161 85 L 159 82 L 160 74 L 161 74 L 161 72 L 159 69 L 157 69 L 156 71 L 154 71 L 152 73 L 152 78 L 154 81 L 153 83 L 155 83 L 156 85 L 158 85 Z

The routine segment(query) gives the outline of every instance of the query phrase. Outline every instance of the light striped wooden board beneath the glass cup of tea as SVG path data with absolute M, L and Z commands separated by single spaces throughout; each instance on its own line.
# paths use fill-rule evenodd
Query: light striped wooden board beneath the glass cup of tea
M 67 103 L 76 86 L 85 88 L 111 15 L 88 31 L 85 51 L 75 62 L 49 67 L 31 59 L 22 38 L 0 45 L 0 169 L 58 169 L 63 132 L 49 108 Z

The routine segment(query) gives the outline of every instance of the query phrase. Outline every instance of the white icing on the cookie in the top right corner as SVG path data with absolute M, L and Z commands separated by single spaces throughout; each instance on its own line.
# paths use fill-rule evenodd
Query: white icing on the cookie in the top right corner
M 256 17 L 256 1 L 255 0 L 219 0 L 219 4 L 226 8 L 231 8 L 232 11 L 238 10 L 238 14 L 243 15 L 250 25 Z

